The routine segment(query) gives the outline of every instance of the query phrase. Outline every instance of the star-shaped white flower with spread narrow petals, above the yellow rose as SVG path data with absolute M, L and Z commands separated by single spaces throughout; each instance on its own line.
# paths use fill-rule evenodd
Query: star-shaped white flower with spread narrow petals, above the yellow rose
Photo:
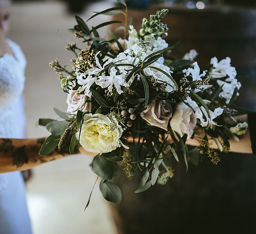
M 121 73 L 120 75 L 117 75 L 116 73 L 117 69 L 115 67 L 111 67 L 109 76 L 100 75 L 99 80 L 97 80 L 97 84 L 101 88 L 107 88 L 110 93 L 113 91 L 113 86 L 116 87 L 119 94 L 123 93 L 121 86 L 128 87 L 129 84 L 126 83 L 124 79 L 124 73 Z

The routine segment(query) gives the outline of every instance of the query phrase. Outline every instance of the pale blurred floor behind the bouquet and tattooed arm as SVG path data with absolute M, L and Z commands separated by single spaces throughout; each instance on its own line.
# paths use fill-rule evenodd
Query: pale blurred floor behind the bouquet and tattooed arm
M 107 1 L 88 7 L 87 19 L 93 11 L 108 7 Z M 108 16 L 95 18 L 93 24 L 107 21 Z M 36 127 L 39 118 L 57 118 L 53 107 L 66 110 L 66 94 L 48 63 L 59 58 L 70 63 L 71 52 L 65 43 L 74 42 L 67 29 L 76 24 L 73 15 L 60 2 L 27 2 L 14 4 L 9 37 L 16 41 L 27 58 L 26 114 L 27 136 L 37 138 L 49 133 Z M 59 30 L 60 34 L 58 33 Z M 104 29 L 107 33 L 107 29 Z M 91 188 L 96 179 L 91 171 L 92 158 L 74 155 L 34 168 L 27 185 L 29 213 L 34 234 L 114 234 L 116 233 L 107 202 L 95 187 L 90 206 L 84 212 Z

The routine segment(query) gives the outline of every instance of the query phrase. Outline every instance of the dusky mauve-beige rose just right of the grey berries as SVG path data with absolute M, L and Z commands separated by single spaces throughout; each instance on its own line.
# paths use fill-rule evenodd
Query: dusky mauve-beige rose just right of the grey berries
M 153 100 L 149 103 L 145 112 L 144 120 L 152 126 L 163 128 L 167 131 L 169 119 L 172 116 L 172 107 L 165 100 Z

